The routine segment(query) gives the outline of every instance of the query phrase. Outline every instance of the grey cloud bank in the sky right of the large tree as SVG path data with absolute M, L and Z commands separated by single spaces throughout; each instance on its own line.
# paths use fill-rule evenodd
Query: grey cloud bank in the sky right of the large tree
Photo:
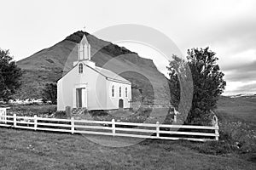
M 256 81 L 256 17 L 241 16 L 213 26 L 205 43 L 217 53 L 219 65 L 229 82 Z M 212 33 L 211 33 L 212 32 Z M 253 86 L 253 85 L 252 85 Z M 234 93 L 251 92 L 253 87 L 241 86 Z M 227 92 L 229 92 L 227 88 Z M 255 90 L 254 90 L 255 92 Z

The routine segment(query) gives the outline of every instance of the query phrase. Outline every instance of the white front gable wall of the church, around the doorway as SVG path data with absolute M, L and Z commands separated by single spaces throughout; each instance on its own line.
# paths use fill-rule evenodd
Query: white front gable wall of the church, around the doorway
M 83 67 L 83 73 L 79 74 L 79 66 L 69 71 L 65 77 L 58 81 L 58 111 L 64 111 L 65 107 L 76 107 L 76 87 L 79 84 L 86 84 L 87 92 L 87 108 L 89 110 L 106 110 L 107 95 L 106 95 L 106 78 L 88 68 Z M 65 89 L 65 90 L 63 90 Z

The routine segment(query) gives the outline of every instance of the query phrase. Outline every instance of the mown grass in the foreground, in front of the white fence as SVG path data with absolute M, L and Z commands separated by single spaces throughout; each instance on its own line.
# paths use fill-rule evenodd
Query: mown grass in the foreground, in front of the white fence
M 84 135 L 0 127 L 0 169 L 255 169 L 236 154 L 205 155 L 201 143 L 145 140 L 107 147 Z M 113 142 L 113 137 L 98 136 Z M 133 139 L 125 139 L 133 140 Z

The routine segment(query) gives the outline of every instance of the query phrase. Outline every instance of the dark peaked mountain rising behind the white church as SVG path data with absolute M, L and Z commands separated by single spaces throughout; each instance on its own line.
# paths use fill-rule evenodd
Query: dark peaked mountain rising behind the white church
M 96 66 L 106 68 L 131 81 L 135 98 L 139 97 L 140 91 L 150 102 L 169 101 L 166 77 L 157 70 L 152 59 L 142 58 L 137 53 L 84 31 L 74 32 L 52 47 L 44 48 L 18 61 L 17 65 L 24 74 L 21 89 L 15 97 L 41 98 L 41 90 L 46 82 L 56 82 L 73 67 L 73 61 L 78 59 L 77 44 L 84 34 L 90 43 L 91 59 L 96 62 Z

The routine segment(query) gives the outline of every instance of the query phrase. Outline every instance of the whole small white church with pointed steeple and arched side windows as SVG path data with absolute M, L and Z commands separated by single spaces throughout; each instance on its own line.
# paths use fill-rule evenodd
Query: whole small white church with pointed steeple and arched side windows
M 57 82 L 58 111 L 65 111 L 66 106 L 89 111 L 131 107 L 131 82 L 90 60 L 85 35 L 79 43 L 78 59 Z

